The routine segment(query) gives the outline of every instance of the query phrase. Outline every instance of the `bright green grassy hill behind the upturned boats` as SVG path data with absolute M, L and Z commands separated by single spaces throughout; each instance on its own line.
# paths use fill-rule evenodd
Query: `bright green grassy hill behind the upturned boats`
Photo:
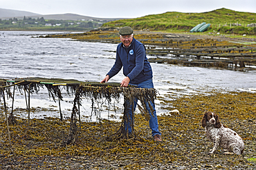
M 199 23 L 210 23 L 208 32 L 223 32 L 233 34 L 255 34 L 256 27 L 248 27 L 255 23 L 256 13 L 237 12 L 221 8 L 203 13 L 165 12 L 152 14 L 136 19 L 121 19 L 104 23 L 105 27 L 131 26 L 136 30 L 176 30 L 188 32 Z

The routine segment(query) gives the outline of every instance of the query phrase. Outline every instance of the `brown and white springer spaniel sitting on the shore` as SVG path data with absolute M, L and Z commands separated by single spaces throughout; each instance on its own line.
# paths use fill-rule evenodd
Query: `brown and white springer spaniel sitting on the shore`
M 202 127 L 205 127 L 206 137 L 213 142 L 210 154 L 214 153 L 218 146 L 237 155 L 244 152 L 244 142 L 241 137 L 232 129 L 222 125 L 217 114 L 205 112 L 201 123 Z

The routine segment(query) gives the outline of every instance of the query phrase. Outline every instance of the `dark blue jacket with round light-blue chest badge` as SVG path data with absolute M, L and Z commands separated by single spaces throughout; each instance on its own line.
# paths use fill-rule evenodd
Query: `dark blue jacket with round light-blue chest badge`
M 123 74 L 130 78 L 131 84 L 141 83 L 153 77 L 152 67 L 147 61 L 146 50 L 143 43 L 133 39 L 131 45 L 126 48 L 122 43 L 118 44 L 116 50 L 116 62 L 107 73 L 113 77 L 122 69 Z

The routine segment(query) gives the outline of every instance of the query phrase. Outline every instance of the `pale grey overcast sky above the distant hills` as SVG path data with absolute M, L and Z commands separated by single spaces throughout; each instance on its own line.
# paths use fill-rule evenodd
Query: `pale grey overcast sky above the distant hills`
M 174 11 L 208 12 L 219 8 L 256 13 L 256 0 L 0 0 L 0 8 L 38 14 L 136 18 Z

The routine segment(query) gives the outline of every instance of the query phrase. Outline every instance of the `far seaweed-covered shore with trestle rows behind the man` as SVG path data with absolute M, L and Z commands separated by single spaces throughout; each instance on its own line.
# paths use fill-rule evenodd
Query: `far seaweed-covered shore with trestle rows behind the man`
M 118 30 L 93 30 L 80 34 L 55 34 L 46 38 L 120 43 Z M 256 70 L 255 39 L 231 38 L 217 34 L 135 31 L 134 37 L 146 45 L 149 62 L 227 70 Z

